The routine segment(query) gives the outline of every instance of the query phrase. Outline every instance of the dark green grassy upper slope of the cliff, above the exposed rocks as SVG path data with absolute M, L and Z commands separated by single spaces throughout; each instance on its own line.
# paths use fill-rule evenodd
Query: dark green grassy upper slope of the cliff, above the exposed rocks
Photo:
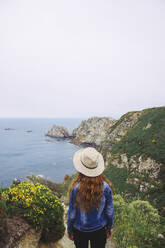
M 131 156 L 145 155 L 165 164 L 165 107 L 148 109 L 139 117 L 121 141 L 112 147 L 112 153 Z

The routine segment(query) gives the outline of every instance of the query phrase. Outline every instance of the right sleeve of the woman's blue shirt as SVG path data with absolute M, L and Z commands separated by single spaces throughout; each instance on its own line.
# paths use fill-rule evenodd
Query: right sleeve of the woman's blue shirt
M 112 229 L 114 225 L 114 208 L 113 208 L 112 190 L 109 186 L 106 187 L 105 214 L 107 217 L 107 227 L 108 229 Z

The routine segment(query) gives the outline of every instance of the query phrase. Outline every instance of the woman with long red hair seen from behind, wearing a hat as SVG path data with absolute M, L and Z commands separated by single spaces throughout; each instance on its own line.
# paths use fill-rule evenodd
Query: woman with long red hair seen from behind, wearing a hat
M 112 235 L 112 184 L 102 174 L 104 160 L 96 149 L 88 147 L 74 154 L 79 172 L 69 189 L 67 232 L 76 248 L 105 248 Z

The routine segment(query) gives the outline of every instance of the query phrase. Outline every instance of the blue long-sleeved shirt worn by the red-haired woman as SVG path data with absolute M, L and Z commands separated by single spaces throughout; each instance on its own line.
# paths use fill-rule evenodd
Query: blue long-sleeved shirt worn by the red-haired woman
M 104 182 L 104 195 L 101 198 L 99 209 L 92 209 L 85 213 L 80 207 L 75 207 L 75 198 L 79 184 L 73 188 L 69 201 L 67 218 L 67 232 L 71 234 L 73 227 L 82 232 L 93 232 L 107 226 L 112 229 L 114 220 L 114 209 L 112 190 L 108 183 Z

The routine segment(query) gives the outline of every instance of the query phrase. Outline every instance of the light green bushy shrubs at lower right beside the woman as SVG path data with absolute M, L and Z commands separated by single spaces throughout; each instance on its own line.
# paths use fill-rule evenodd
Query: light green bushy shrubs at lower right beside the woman
M 158 248 L 160 216 L 147 201 L 127 203 L 120 195 L 114 195 L 115 226 L 113 240 L 116 247 Z

